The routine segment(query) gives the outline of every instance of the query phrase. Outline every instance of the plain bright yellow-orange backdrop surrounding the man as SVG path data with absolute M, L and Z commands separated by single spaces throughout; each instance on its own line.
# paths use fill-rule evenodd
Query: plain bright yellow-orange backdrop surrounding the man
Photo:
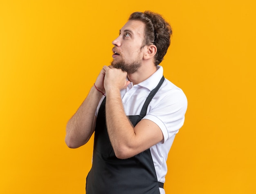
M 84 194 L 92 144 L 65 145 L 134 11 L 173 27 L 164 76 L 188 98 L 166 194 L 256 193 L 254 0 L 0 0 L 0 193 Z

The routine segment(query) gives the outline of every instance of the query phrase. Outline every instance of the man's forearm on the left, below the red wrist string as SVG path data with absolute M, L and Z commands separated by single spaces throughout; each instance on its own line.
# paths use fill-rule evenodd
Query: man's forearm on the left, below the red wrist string
M 65 142 L 68 147 L 76 148 L 88 142 L 94 132 L 95 111 L 102 94 L 93 86 L 66 127 Z

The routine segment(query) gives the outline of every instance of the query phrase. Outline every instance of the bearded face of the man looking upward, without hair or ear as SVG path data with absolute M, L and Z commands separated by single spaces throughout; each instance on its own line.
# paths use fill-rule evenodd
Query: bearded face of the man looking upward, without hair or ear
M 112 42 L 113 61 L 111 65 L 132 74 L 139 69 L 144 56 L 141 49 L 145 36 L 145 25 L 139 20 L 129 20 Z

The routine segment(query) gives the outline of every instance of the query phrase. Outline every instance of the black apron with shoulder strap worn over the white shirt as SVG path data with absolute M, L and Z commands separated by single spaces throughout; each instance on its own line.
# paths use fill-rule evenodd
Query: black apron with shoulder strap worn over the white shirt
M 140 115 L 128 116 L 135 126 L 146 116 L 148 104 L 164 82 L 164 76 L 148 95 Z M 164 183 L 157 181 L 157 175 L 150 149 L 131 158 L 115 156 L 109 140 L 106 117 L 106 98 L 101 103 L 94 134 L 92 168 L 86 178 L 86 194 L 159 194 Z

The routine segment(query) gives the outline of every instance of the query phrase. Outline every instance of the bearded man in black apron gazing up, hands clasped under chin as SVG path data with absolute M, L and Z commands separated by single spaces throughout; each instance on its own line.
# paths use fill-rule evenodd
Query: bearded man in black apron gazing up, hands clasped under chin
M 71 148 L 95 131 L 86 194 L 164 194 L 166 159 L 187 107 L 159 66 L 171 33 L 159 14 L 132 13 L 112 42 L 111 66 L 67 123 Z

